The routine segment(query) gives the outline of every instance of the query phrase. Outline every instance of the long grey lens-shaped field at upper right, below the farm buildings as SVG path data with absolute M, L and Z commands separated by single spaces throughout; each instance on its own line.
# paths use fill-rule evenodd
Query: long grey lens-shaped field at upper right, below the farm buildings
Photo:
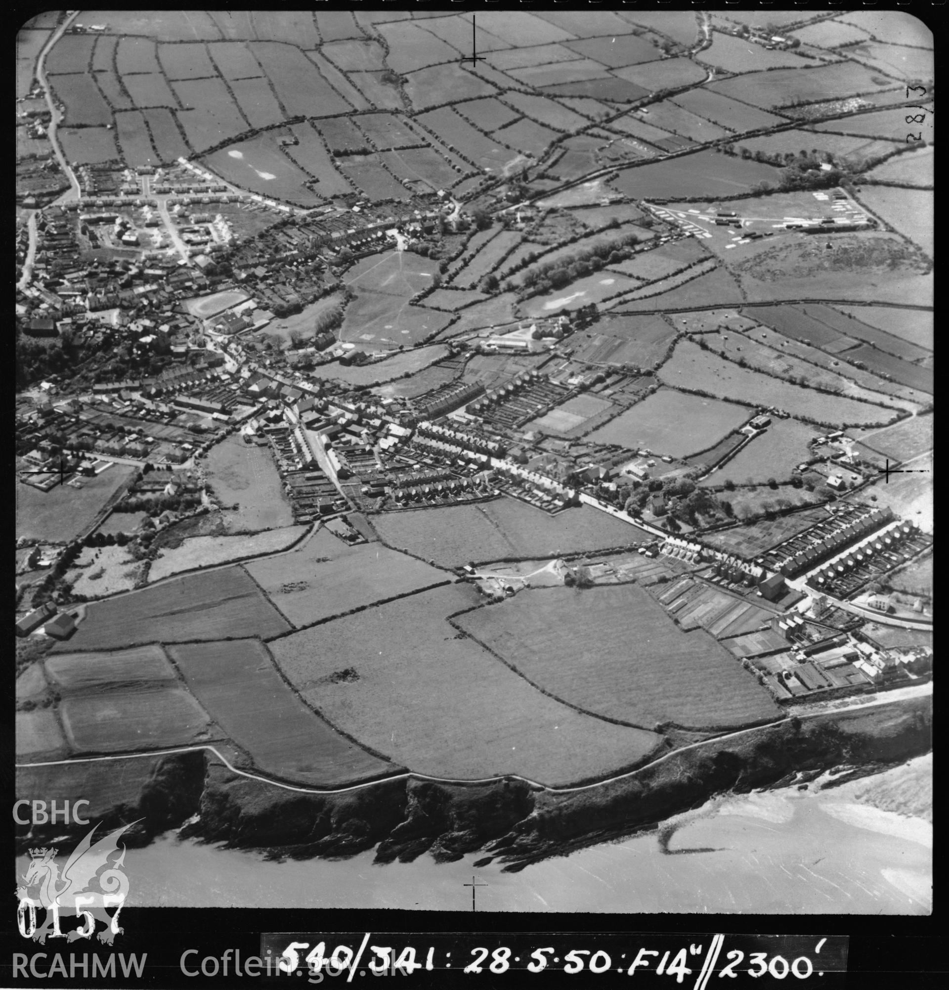
M 812 65 L 811 62 L 806 64 Z M 880 79 L 880 82 L 874 82 L 874 79 Z M 893 88 L 894 82 L 893 79 L 883 79 L 872 69 L 856 62 L 843 61 L 809 67 L 806 72 L 780 68 L 770 72 L 751 72 L 712 82 L 709 88 L 756 107 L 777 108 L 790 106 L 796 101 L 807 103 L 825 99 L 828 93 L 840 99 L 854 93 L 874 93 L 879 89 Z

